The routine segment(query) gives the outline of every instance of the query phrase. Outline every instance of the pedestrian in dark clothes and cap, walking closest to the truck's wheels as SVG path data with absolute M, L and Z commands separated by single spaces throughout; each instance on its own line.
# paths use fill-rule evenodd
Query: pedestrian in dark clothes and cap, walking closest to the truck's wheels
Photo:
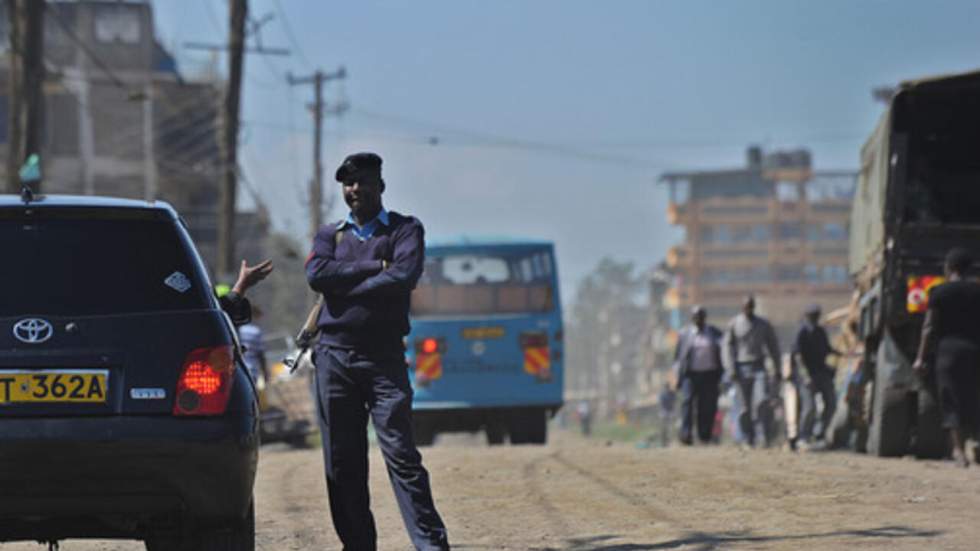
M 792 358 L 799 379 L 802 412 L 800 414 L 800 438 L 805 442 L 822 441 L 830 420 L 837 408 L 837 391 L 834 389 L 834 369 L 827 365 L 827 356 L 841 353 L 830 345 L 827 331 L 820 325 L 820 306 L 806 308 L 803 323 L 793 339 Z M 823 403 L 817 416 L 817 398 Z M 794 445 L 791 442 L 790 445 Z

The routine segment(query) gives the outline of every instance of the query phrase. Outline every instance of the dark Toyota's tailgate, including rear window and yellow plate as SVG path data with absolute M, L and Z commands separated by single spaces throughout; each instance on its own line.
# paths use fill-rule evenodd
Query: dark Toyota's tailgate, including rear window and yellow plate
M 0 210 L 0 418 L 169 414 L 195 349 L 233 336 L 158 209 Z

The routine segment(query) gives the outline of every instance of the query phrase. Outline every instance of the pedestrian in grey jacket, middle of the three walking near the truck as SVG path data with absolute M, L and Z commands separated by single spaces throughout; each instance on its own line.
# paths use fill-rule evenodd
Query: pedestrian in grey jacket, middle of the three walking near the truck
M 770 419 L 768 402 L 774 389 L 782 382 L 779 369 L 779 342 L 769 320 L 756 315 L 755 297 L 749 295 L 742 303 L 742 312 L 735 316 L 725 331 L 725 348 L 732 376 L 742 402 L 740 425 L 750 446 L 762 440 L 770 443 L 772 431 L 766 426 Z M 773 383 L 766 372 L 766 356 L 772 359 Z

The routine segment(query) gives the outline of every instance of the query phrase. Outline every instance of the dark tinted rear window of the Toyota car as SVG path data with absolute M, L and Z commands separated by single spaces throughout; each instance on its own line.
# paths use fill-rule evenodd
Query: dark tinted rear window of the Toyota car
M 164 213 L 0 213 L 0 316 L 206 308 L 192 250 Z

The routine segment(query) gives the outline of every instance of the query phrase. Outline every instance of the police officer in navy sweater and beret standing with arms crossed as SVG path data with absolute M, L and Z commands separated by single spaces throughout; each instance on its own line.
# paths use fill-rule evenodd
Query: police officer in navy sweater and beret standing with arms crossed
M 350 214 L 320 229 L 306 262 L 310 287 L 324 297 L 314 363 L 334 529 L 345 550 L 376 548 L 368 496 L 370 415 L 412 543 L 449 549 L 412 437 L 403 344 L 409 296 L 422 274 L 422 224 L 382 206 L 378 155 L 348 156 L 336 179 Z

